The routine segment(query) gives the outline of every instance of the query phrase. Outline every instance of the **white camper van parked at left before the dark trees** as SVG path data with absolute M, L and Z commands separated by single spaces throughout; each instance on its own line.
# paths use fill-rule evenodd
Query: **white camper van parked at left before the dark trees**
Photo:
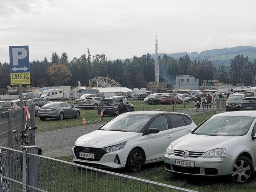
M 69 99 L 69 95 L 66 94 L 66 91 L 63 91 L 63 89 L 49 89 L 44 90 L 42 93 L 41 99 L 48 100 L 58 100 L 58 99 Z

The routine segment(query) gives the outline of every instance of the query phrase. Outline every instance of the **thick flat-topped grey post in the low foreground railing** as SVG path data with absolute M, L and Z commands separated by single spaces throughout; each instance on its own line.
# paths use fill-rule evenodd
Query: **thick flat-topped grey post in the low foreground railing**
M 25 146 L 23 149 L 27 153 L 36 154 L 38 153 L 38 146 Z M 37 157 L 27 155 L 27 183 L 33 187 L 38 187 L 38 168 L 37 168 Z M 30 189 L 31 192 L 36 192 L 35 189 Z

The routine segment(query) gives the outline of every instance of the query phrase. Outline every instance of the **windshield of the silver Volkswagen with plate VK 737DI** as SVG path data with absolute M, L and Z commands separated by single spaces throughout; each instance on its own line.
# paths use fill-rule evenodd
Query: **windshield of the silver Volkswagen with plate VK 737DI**
M 245 135 L 254 117 L 214 116 L 193 131 L 197 135 L 242 136 Z

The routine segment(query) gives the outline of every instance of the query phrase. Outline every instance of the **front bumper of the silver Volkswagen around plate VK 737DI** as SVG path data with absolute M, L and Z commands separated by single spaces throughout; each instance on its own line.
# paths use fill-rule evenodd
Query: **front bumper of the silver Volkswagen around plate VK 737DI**
M 201 175 L 201 176 L 221 176 L 230 175 L 233 172 L 233 165 L 236 157 L 225 158 L 191 158 L 178 157 L 174 154 L 164 155 L 165 170 L 170 173 L 180 173 L 187 175 Z M 174 159 L 184 161 L 194 161 L 195 167 L 175 166 Z

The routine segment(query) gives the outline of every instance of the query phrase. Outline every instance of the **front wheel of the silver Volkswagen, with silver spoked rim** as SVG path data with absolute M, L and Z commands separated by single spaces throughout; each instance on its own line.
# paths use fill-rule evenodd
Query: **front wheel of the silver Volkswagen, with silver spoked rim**
M 247 183 L 252 180 L 253 175 L 254 167 L 251 160 L 244 156 L 238 157 L 233 166 L 232 181 L 236 183 Z

